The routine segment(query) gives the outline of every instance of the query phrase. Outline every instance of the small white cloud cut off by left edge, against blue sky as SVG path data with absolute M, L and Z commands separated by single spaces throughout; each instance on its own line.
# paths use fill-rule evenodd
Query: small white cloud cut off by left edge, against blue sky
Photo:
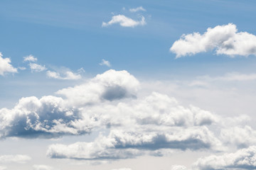
M 6 73 L 17 73 L 17 69 L 11 65 L 11 60 L 9 58 L 3 58 L 0 52 L 0 75 L 4 76 Z

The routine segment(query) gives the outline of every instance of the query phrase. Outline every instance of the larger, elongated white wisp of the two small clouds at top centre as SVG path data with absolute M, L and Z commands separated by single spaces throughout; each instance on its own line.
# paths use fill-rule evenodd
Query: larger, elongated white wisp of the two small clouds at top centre
M 117 16 L 112 16 L 112 19 L 107 23 L 102 22 L 102 27 L 111 26 L 114 23 L 119 23 L 119 25 L 122 27 L 134 28 L 136 26 L 144 26 L 146 24 L 146 21 L 144 16 L 142 16 L 140 21 L 135 21 L 132 18 L 128 18 L 127 16 L 117 15 Z

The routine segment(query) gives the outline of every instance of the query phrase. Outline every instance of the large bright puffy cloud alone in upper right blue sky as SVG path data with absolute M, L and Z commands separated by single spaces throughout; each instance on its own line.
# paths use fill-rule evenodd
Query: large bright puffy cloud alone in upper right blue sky
M 181 39 L 176 40 L 170 48 L 170 51 L 176 54 L 176 58 L 210 50 L 215 50 L 217 55 L 230 57 L 256 55 L 256 36 L 247 32 L 238 32 L 235 24 L 229 23 L 208 28 L 202 35 L 200 33 L 182 35 Z

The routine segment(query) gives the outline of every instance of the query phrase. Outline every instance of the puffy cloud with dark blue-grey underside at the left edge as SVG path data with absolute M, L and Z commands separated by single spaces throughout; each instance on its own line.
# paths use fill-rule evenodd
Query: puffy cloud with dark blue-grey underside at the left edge
M 21 98 L 13 109 L 0 110 L 0 137 L 58 137 L 90 132 L 93 121 L 87 120 L 90 123 L 78 128 L 79 119 L 78 109 L 65 108 L 62 98 Z

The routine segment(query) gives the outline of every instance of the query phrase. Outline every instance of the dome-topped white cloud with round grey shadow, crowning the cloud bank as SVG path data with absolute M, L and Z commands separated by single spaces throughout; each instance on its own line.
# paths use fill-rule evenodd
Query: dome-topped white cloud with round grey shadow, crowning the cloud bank
M 103 74 L 97 74 L 85 84 L 62 89 L 57 94 L 65 96 L 73 106 L 85 106 L 102 100 L 136 97 L 138 89 L 139 81 L 127 71 L 117 72 L 110 69 Z

